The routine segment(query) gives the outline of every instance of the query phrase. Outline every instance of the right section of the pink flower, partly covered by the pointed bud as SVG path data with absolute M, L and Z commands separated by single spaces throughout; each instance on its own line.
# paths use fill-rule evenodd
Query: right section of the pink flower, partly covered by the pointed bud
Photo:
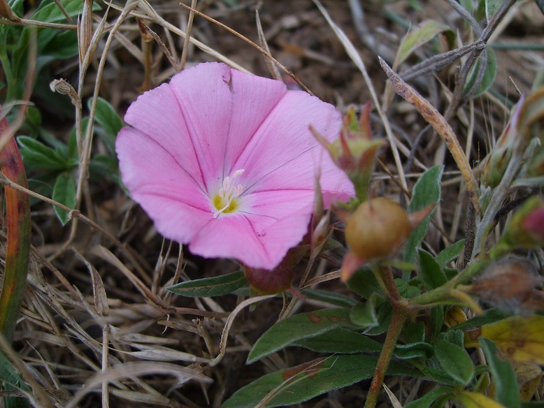
M 337 136 L 341 121 L 341 115 L 332 105 L 315 96 L 305 92 L 286 94 L 234 164 L 234 168 L 245 169 L 246 191 L 313 191 L 317 168 L 321 168 L 324 196 L 333 194 L 341 200 L 352 196 L 352 183 L 308 129 L 311 124 L 332 140 Z

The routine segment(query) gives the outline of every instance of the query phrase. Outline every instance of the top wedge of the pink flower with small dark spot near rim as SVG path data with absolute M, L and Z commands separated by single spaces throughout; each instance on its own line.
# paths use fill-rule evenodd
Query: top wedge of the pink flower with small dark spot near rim
M 280 98 L 282 82 L 207 63 L 172 78 L 170 86 L 187 123 L 206 187 L 222 182 Z

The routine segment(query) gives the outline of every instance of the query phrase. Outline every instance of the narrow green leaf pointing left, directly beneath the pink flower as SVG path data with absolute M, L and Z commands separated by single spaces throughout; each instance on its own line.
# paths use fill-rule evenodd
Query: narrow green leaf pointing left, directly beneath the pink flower
M 211 298 L 213 296 L 228 295 L 244 286 L 248 281 L 243 271 L 228 273 L 218 277 L 206 277 L 192 281 L 181 282 L 166 288 L 172 293 L 189 298 Z

